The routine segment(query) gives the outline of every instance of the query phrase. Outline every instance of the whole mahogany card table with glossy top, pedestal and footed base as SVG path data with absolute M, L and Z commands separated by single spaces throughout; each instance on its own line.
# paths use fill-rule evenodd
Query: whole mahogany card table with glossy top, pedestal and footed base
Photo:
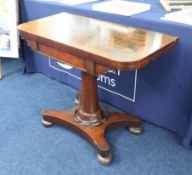
M 95 146 L 100 163 L 109 164 L 112 154 L 105 139 L 106 131 L 127 127 L 133 133 L 140 133 L 142 126 L 137 116 L 106 111 L 99 105 L 97 76 L 109 69 L 142 68 L 173 48 L 178 38 L 69 13 L 27 22 L 18 29 L 34 51 L 82 72 L 82 87 L 75 107 L 64 111 L 44 110 L 43 125 L 60 124 L 73 129 Z

